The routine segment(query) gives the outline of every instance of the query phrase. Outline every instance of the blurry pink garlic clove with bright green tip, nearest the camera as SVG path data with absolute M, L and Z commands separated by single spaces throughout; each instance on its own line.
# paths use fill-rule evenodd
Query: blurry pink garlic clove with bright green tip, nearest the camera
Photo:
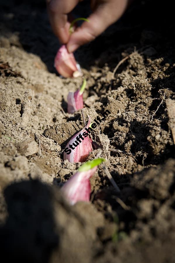
M 89 179 L 96 172 L 97 165 L 105 161 L 103 158 L 98 158 L 86 162 L 80 166 L 78 171 L 63 185 L 61 191 L 71 205 L 78 201 L 89 202 L 91 193 L 91 184 Z

